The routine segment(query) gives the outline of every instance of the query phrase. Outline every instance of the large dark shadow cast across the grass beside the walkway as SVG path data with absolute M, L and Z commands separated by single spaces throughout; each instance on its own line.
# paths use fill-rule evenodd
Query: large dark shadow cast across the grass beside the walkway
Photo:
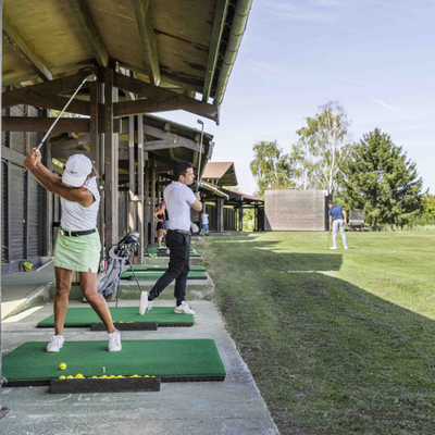
M 434 321 L 303 272 L 336 271 L 340 256 L 274 252 L 277 243 L 213 243 L 203 254 L 281 433 L 434 433 Z

